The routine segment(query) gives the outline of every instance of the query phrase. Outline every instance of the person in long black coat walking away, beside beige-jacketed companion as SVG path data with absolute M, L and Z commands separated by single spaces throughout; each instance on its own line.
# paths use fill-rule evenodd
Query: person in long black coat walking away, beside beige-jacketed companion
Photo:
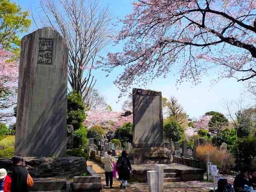
M 131 172 L 131 163 L 127 157 L 126 151 L 122 151 L 121 157 L 118 158 L 116 164 L 119 165 L 119 168 L 116 168 L 119 175 L 120 188 L 125 189 L 130 179 Z

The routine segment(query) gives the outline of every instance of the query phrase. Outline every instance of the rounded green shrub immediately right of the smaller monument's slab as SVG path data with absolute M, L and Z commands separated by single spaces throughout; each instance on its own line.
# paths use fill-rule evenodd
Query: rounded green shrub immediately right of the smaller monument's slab
M 175 120 L 170 120 L 163 124 L 164 137 L 166 140 L 179 141 L 184 135 L 184 129 Z

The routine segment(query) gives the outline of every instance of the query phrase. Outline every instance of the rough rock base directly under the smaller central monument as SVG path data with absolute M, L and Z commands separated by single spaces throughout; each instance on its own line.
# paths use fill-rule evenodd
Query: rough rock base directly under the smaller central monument
M 172 151 L 163 147 L 134 148 L 128 154 L 131 164 L 171 164 Z

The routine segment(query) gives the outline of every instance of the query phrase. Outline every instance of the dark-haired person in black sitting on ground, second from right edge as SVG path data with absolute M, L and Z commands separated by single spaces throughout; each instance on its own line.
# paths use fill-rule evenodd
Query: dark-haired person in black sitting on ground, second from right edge
M 236 176 L 233 186 L 234 186 L 235 192 L 241 192 L 241 191 L 252 192 L 253 191 L 253 187 L 250 186 L 250 183 L 248 180 L 247 169 L 241 170 L 239 175 Z

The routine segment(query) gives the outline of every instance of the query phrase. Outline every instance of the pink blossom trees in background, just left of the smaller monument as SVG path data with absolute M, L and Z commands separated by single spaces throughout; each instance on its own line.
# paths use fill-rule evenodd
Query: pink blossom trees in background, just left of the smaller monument
M 132 115 L 121 116 L 121 112 L 109 111 L 105 108 L 91 109 L 85 112 L 87 117 L 84 124 L 90 128 L 93 125 L 100 125 L 103 128 L 110 128 L 116 130 L 121 127 L 124 123 L 132 122 Z

